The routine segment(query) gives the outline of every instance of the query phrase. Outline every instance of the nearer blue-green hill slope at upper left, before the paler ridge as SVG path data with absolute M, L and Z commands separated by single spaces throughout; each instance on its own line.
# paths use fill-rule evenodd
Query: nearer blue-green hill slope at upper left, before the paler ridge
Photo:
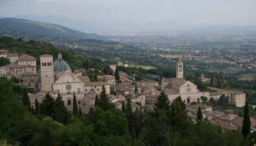
M 16 18 L 0 19 L 2 27 L 9 27 L 21 32 L 32 33 L 37 35 L 60 36 L 70 39 L 102 39 L 102 36 L 93 33 L 84 33 L 78 30 L 72 30 L 61 25 L 42 23 Z

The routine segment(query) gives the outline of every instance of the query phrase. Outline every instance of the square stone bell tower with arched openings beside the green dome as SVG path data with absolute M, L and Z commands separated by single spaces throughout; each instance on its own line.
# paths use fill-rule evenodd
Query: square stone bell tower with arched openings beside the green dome
M 44 54 L 40 57 L 41 71 L 41 88 L 40 91 L 53 91 L 52 84 L 54 82 L 53 75 L 53 56 Z

